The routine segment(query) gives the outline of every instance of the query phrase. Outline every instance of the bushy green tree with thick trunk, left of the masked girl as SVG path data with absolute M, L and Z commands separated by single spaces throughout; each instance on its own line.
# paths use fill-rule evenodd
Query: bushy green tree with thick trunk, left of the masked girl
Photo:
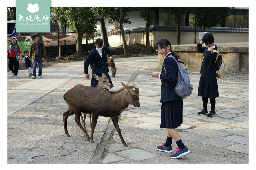
M 74 55 L 81 57 L 83 35 L 87 39 L 92 37 L 96 31 L 97 18 L 91 7 L 69 7 L 65 17 L 68 28 L 77 33 L 76 53 Z

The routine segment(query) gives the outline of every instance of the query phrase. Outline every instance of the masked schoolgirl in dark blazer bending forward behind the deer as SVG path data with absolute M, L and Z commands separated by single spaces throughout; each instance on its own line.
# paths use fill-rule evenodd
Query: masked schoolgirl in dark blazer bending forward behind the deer
M 107 54 L 108 53 L 108 61 L 107 61 Z M 98 76 L 101 77 L 102 73 L 106 74 L 106 77 L 109 79 L 109 83 L 113 85 L 110 76 L 108 74 L 108 63 L 111 62 L 112 60 L 112 53 L 111 50 L 107 46 L 103 46 L 103 41 L 102 39 L 98 38 L 95 41 L 95 46 L 94 48 L 89 52 L 89 55 L 87 56 L 86 60 L 84 61 L 84 74 L 85 74 L 85 79 L 89 79 L 89 74 L 88 74 L 88 67 L 91 62 L 93 62 L 93 67 L 92 67 L 92 74 L 97 74 Z M 91 87 L 96 87 L 98 84 L 98 80 L 96 80 L 92 76 L 91 80 Z M 114 86 L 113 86 L 114 87 Z M 108 90 L 108 89 L 106 89 Z

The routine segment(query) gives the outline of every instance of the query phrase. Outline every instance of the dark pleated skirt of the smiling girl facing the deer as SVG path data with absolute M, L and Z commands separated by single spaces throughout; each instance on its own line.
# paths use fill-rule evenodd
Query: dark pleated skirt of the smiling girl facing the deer
M 182 124 L 183 100 L 162 103 L 160 128 L 177 128 Z

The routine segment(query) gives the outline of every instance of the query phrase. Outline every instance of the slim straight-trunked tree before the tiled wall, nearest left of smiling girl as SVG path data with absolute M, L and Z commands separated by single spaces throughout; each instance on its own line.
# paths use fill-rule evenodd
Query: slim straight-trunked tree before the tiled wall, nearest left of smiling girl
M 151 47 L 149 41 L 149 26 L 155 18 L 155 12 L 151 10 L 151 7 L 143 7 L 140 12 L 140 17 L 146 21 L 146 54 L 151 54 Z

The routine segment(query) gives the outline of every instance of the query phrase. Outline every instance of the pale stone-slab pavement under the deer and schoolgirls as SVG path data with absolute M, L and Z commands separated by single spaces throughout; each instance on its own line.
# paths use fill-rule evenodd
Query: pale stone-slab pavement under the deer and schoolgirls
M 43 68 L 43 78 L 36 77 L 35 80 L 28 77 L 27 70 L 19 70 L 17 79 L 8 72 L 7 166 L 58 163 L 65 164 L 63 169 L 73 169 L 74 163 L 91 163 L 105 164 L 99 166 L 104 169 L 108 164 L 145 164 L 140 169 L 166 169 L 163 167 L 168 164 L 172 167 L 191 164 L 191 168 L 197 163 L 212 164 L 211 167 L 224 163 L 236 168 L 241 165 L 240 169 L 243 169 L 249 165 L 248 83 L 218 79 L 217 115 L 207 117 L 197 115 L 202 109 L 202 100 L 197 96 L 199 79 L 192 78 L 193 93 L 183 100 L 183 124 L 177 128 L 191 153 L 180 159 L 171 159 L 170 153 L 156 150 L 167 135 L 166 129 L 160 129 L 161 81 L 148 75 L 161 70 L 157 68 L 158 56 L 116 58 L 115 63 L 118 69 L 116 77 L 111 77 L 114 85 L 111 91 L 120 89 L 120 82 L 130 85 L 132 81 L 140 89 L 140 107 L 129 105 L 119 119 L 128 147 L 122 145 L 109 117 L 99 117 L 94 144 L 86 140 L 74 122 L 74 115 L 68 117 L 71 137 L 65 135 L 62 113 L 68 106 L 63 94 L 76 84 L 90 86 L 90 80 L 84 79 L 83 62 Z M 111 71 L 109 73 L 111 75 Z M 89 117 L 86 118 L 87 125 L 88 121 Z M 90 134 L 89 127 L 86 128 Z M 173 141 L 172 148 L 176 147 Z M 255 152 L 250 151 L 250 154 Z M 165 165 L 158 167 L 159 163 Z

